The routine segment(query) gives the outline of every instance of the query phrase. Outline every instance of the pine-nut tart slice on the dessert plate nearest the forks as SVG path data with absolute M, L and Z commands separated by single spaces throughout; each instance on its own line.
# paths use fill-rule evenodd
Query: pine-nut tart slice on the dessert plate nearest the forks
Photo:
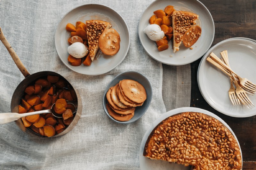
M 183 35 L 189 28 L 196 25 L 198 15 L 188 11 L 174 11 L 172 14 L 172 29 L 173 29 L 173 53 L 179 51 L 179 47 L 183 40 Z

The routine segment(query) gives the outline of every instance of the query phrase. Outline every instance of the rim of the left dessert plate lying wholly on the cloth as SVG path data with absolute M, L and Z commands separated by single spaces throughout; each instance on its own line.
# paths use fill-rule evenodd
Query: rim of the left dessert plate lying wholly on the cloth
M 57 47 L 56 47 L 56 35 L 57 35 L 57 30 L 58 30 L 58 28 L 59 28 L 60 23 L 62 22 L 62 20 L 63 20 L 71 11 L 74 11 L 74 10 L 76 10 L 77 8 L 80 8 L 80 7 L 83 7 L 83 6 L 87 6 L 87 5 L 99 5 L 99 6 L 103 6 L 103 7 L 106 7 L 106 8 L 108 8 L 108 9 L 114 11 L 114 12 L 124 21 L 125 27 L 126 27 L 126 29 L 127 29 L 127 31 L 128 31 L 128 47 L 127 47 L 127 50 L 126 50 L 125 55 L 123 56 L 122 60 L 121 60 L 118 64 L 116 64 L 113 68 L 108 69 L 108 71 L 105 71 L 105 72 L 102 72 L 102 73 L 99 73 L 99 74 L 88 74 L 88 73 L 85 74 L 85 73 L 80 73 L 80 72 L 78 72 L 78 71 L 72 69 L 71 67 L 69 67 L 67 64 L 65 64 L 65 63 L 62 61 L 62 59 L 61 59 L 61 57 L 60 57 L 60 55 L 59 55 L 59 52 L 58 52 L 58 50 L 57 50 Z M 55 45 L 55 50 L 57 51 L 58 57 L 60 58 L 60 61 L 61 61 L 68 69 L 70 69 L 70 70 L 72 70 L 72 71 L 75 71 L 76 73 L 83 74 L 83 75 L 98 76 L 98 75 L 102 75 L 102 74 L 108 73 L 109 71 L 115 69 L 119 64 L 121 64 L 121 63 L 124 61 L 124 58 L 127 56 L 128 51 L 129 51 L 129 49 L 130 49 L 130 43 L 131 43 L 131 42 L 130 42 L 130 41 L 131 41 L 130 39 L 131 39 L 131 38 L 130 38 L 129 27 L 128 27 L 127 23 L 125 22 L 124 18 L 123 18 L 116 10 L 114 10 L 113 8 L 111 8 L 111 7 L 109 7 L 109 6 L 106 6 L 106 5 L 96 4 L 96 3 L 95 3 L 95 4 L 94 4 L 94 3 L 88 3 L 88 4 L 79 5 L 79 6 L 75 7 L 75 8 L 73 8 L 73 9 L 69 10 L 69 11 L 60 19 L 60 21 L 59 21 L 59 23 L 58 23 L 58 26 L 56 27 L 56 30 L 55 30 L 54 45 Z

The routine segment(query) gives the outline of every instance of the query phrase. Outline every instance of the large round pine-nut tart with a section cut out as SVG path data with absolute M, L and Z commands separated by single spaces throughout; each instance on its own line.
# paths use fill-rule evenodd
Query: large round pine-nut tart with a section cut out
M 191 165 L 193 169 L 237 169 L 242 156 L 230 130 L 212 116 L 183 112 L 160 122 L 150 133 L 143 156 Z

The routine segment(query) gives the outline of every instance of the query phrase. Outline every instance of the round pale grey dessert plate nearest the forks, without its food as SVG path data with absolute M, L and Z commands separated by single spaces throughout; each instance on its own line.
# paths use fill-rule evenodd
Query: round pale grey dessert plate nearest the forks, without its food
M 173 53 L 171 40 L 169 41 L 169 48 L 167 50 L 158 51 L 156 42 L 150 40 L 143 32 L 144 28 L 149 25 L 148 20 L 154 15 L 153 12 L 159 9 L 164 10 L 167 5 L 174 6 L 176 10 L 189 11 L 199 15 L 196 23 L 201 26 L 202 34 L 192 46 L 192 50 L 185 48 L 182 43 L 180 50 Z M 214 38 L 214 22 L 208 9 L 197 0 L 157 0 L 148 6 L 140 18 L 139 38 L 148 55 L 156 61 L 168 65 L 185 65 L 196 61 L 211 47 Z

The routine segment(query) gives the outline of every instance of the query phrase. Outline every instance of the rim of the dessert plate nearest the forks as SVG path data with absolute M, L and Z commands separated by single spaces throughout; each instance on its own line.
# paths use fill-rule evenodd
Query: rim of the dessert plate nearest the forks
M 212 42 L 213 42 L 213 40 L 214 40 L 214 35 L 215 35 L 215 24 L 214 24 L 214 21 L 213 21 L 213 18 L 212 18 L 212 14 L 210 13 L 210 11 L 206 8 L 206 6 L 203 4 L 203 3 L 201 3 L 199 0 L 194 0 L 194 1 L 196 1 L 196 2 L 198 2 L 199 4 L 201 4 L 205 9 L 206 9 L 206 11 L 208 12 L 208 14 L 210 14 L 210 16 L 211 16 L 211 21 L 212 21 L 212 24 L 213 24 L 213 37 L 212 37 L 212 41 L 211 41 L 211 43 L 210 43 L 210 45 L 209 45 L 209 47 L 204 51 L 204 53 L 203 53 L 203 55 L 210 49 L 210 47 L 212 46 Z M 153 3 L 155 3 L 156 1 L 153 1 L 151 4 L 149 4 L 148 5 L 148 7 L 143 11 L 143 13 L 142 13 L 142 15 L 141 15 L 141 17 L 140 17 L 140 21 L 141 21 L 141 19 L 142 19 L 142 16 L 144 15 L 144 13 L 148 10 L 148 8 L 153 4 Z M 156 61 L 158 61 L 159 63 L 163 63 L 163 64 L 167 64 L 167 65 L 175 65 L 175 66 L 180 66 L 180 65 L 186 65 L 186 64 L 190 64 L 190 63 L 193 63 L 194 61 L 196 61 L 196 60 L 198 60 L 200 57 L 202 57 L 202 56 L 199 56 L 198 58 L 196 58 L 195 60 L 193 60 L 192 62 L 185 62 L 185 63 L 180 63 L 180 64 L 172 64 L 172 63 L 166 63 L 166 62 L 162 62 L 162 61 L 159 61 L 156 57 L 153 57 L 152 55 L 150 55 L 149 53 L 148 53 L 148 51 L 145 49 L 145 47 L 144 47 L 144 44 L 143 44 L 143 41 L 141 41 L 141 35 L 140 35 L 140 21 L 139 21 L 139 26 L 138 26 L 138 34 L 139 34 L 139 39 L 140 39 L 140 43 L 141 43 L 141 45 L 142 45 L 142 47 L 144 48 L 144 50 L 147 52 L 147 54 L 150 56 L 150 57 L 152 57 L 154 60 L 156 60 Z

